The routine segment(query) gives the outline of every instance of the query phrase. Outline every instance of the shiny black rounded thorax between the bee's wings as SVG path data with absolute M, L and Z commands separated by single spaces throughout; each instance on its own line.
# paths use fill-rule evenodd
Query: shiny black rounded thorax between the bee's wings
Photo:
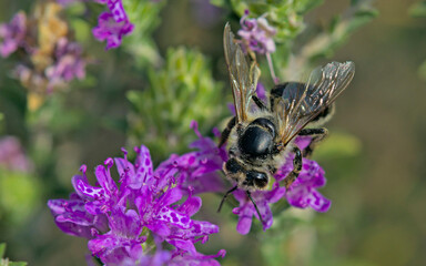
M 241 152 L 250 157 L 270 154 L 274 146 L 275 125 L 268 119 L 254 120 L 239 137 Z

